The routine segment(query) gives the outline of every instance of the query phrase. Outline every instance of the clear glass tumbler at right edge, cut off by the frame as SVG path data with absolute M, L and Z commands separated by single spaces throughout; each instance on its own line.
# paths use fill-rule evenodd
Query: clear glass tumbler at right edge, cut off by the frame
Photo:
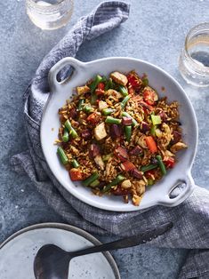
M 209 86 L 209 22 L 190 29 L 181 51 L 179 70 L 188 84 Z

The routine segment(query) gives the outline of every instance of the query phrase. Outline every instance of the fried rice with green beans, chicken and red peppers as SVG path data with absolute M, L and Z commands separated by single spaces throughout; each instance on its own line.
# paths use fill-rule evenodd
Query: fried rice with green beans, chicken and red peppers
M 159 99 L 135 71 L 94 76 L 59 109 L 60 162 L 95 195 L 121 195 L 137 206 L 187 147 L 178 106 Z

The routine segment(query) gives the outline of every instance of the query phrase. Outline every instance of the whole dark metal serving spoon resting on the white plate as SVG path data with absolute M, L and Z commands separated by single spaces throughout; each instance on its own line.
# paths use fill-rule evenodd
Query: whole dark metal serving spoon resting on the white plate
M 36 279 L 68 279 L 69 261 L 75 257 L 101 251 L 110 251 L 147 243 L 173 227 L 172 222 L 167 222 L 152 230 L 147 230 L 139 235 L 132 235 L 111 243 L 104 243 L 80 251 L 64 251 L 60 247 L 47 244 L 36 253 L 34 260 L 34 274 Z

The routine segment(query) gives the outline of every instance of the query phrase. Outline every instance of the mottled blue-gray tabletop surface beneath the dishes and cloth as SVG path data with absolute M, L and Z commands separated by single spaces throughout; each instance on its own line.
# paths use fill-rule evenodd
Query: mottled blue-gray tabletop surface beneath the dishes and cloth
M 75 0 L 68 26 L 56 31 L 36 28 L 25 12 L 24 0 L 0 3 L 0 242 L 22 227 L 62 219 L 44 202 L 25 176 L 11 170 L 13 154 L 26 150 L 22 94 L 44 55 L 76 20 L 100 0 Z M 208 187 L 209 92 L 184 83 L 177 60 L 184 38 L 192 26 L 208 20 L 208 0 L 131 0 L 130 18 L 120 28 L 84 44 L 80 60 L 108 56 L 131 56 L 164 68 L 184 87 L 197 113 L 199 142 L 192 173 L 197 183 Z M 102 241 L 109 237 L 98 238 Z M 136 247 L 113 255 L 122 279 L 177 278 L 187 251 Z

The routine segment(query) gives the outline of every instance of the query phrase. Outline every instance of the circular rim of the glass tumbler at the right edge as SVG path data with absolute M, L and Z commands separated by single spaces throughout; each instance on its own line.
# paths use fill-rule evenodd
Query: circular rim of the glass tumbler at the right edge
M 195 68 L 198 68 L 198 70 L 201 70 L 201 68 L 202 68 L 203 71 L 206 71 L 209 73 L 208 66 L 205 66 L 205 65 L 200 66 L 189 54 L 189 50 L 188 50 L 189 40 L 192 38 L 192 36 L 196 35 L 199 31 L 201 31 L 201 29 L 197 30 L 197 28 L 202 28 L 202 30 L 207 30 L 208 34 L 209 34 L 209 21 L 199 23 L 196 26 L 194 26 L 193 28 L 189 29 L 189 33 L 187 34 L 185 42 L 184 42 L 185 54 L 186 54 L 186 57 L 189 59 L 189 61 Z

